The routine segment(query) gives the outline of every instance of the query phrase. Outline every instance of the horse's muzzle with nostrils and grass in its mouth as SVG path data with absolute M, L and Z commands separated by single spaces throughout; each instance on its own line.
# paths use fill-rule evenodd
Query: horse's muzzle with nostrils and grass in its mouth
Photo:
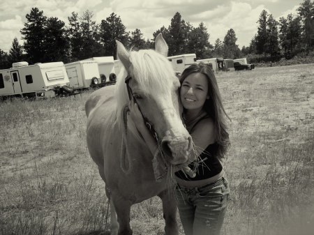
M 161 141 L 161 149 L 172 165 L 186 163 L 193 148 L 190 135 L 167 135 Z

